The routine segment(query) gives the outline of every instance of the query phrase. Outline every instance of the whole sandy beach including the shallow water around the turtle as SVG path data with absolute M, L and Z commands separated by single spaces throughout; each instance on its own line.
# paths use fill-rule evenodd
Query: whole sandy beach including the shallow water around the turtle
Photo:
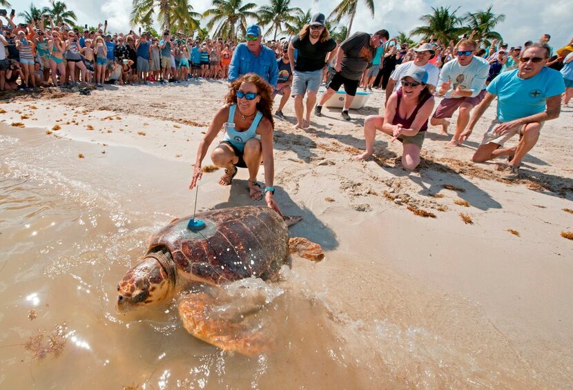
M 524 177 L 509 182 L 503 159 L 470 161 L 495 104 L 465 146 L 445 148 L 448 138 L 430 127 L 420 168 L 409 172 L 401 144 L 380 133 L 374 157 L 354 159 L 364 118 L 383 113 L 382 92 L 351 110 L 352 121 L 325 107 L 306 130 L 293 129 L 289 101 L 286 120 L 275 119 L 275 197 L 284 215 L 304 218 L 291 237 L 317 242 L 325 258 L 293 259 L 280 310 L 269 313 L 280 333 L 275 351 L 227 356 L 193 340 L 176 310 L 120 317 L 115 284 L 149 235 L 193 212 L 197 145 L 226 90 L 222 81 L 106 86 L 89 96 L 50 88 L 0 104 L 0 320 L 10 329 L 0 343 L 25 344 L 65 321 L 91 348 L 41 361 L 23 347 L 2 348 L 3 386 L 14 386 L 22 367 L 34 373 L 24 384 L 61 388 L 101 384 L 102 375 L 115 387 L 571 386 L 573 241 L 561 233 L 573 231 L 572 108 L 545 124 Z M 228 187 L 221 175 L 204 173 L 199 211 L 264 205 L 249 199 L 246 170 Z M 50 306 L 33 306 L 31 291 Z M 34 320 L 32 309 L 41 314 Z M 134 351 L 145 364 L 130 360 Z M 56 376 L 66 364 L 88 369 Z

